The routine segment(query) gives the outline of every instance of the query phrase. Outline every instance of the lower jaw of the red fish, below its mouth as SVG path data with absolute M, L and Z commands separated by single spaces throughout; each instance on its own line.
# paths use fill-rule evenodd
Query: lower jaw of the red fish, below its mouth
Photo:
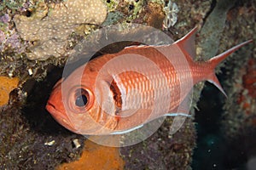
M 51 114 L 51 116 L 54 117 L 56 122 L 59 122 L 63 127 L 66 127 L 68 130 L 74 133 L 76 132 L 76 129 L 73 126 L 73 123 L 70 121 L 70 119 L 66 115 L 64 115 L 61 111 L 58 111 L 55 108 L 55 105 L 48 102 L 47 105 L 45 106 L 45 109 Z

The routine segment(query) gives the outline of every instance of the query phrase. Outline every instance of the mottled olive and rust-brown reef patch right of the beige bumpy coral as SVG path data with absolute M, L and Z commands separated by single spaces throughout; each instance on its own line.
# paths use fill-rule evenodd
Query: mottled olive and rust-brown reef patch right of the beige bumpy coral
M 164 1 L 145 1 L 145 0 L 122 0 L 107 1 L 108 18 L 103 26 L 116 23 L 137 23 L 147 24 L 155 28 L 162 28 L 163 20 L 166 18 L 164 11 Z

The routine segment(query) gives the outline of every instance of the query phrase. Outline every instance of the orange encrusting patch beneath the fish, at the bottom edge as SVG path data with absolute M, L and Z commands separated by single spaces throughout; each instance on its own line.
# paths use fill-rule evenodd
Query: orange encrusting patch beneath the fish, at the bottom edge
M 64 163 L 57 170 L 72 169 L 113 169 L 124 168 L 125 162 L 119 156 L 119 149 L 95 144 L 90 140 L 84 142 L 84 150 L 78 161 Z

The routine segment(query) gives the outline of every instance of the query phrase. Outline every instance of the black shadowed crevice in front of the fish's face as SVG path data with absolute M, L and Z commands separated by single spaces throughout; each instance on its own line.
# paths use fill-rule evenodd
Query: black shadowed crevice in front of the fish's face
M 45 105 L 49 99 L 52 88 L 61 79 L 61 68 L 55 67 L 49 72 L 44 81 L 27 81 L 23 90 L 27 92 L 26 105 L 22 108 L 23 116 L 29 123 L 32 130 L 38 133 L 58 134 L 69 133 L 46 111 Z M 70 134 L 70 133 L 69 133 Z

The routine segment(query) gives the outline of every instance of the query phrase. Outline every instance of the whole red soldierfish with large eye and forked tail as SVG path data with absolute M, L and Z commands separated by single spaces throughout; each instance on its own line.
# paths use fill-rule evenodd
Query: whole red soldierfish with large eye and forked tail
M 223 94 L 215 67 L 248 42 L 206 62 L 195 62 L 195 31 L 162 46 L 131 46 L 104 54 L 56 83 L 46 109 L 80 134 L 126 133 L 160 116 L 188 116 L 197 82 L 212 82 Z

